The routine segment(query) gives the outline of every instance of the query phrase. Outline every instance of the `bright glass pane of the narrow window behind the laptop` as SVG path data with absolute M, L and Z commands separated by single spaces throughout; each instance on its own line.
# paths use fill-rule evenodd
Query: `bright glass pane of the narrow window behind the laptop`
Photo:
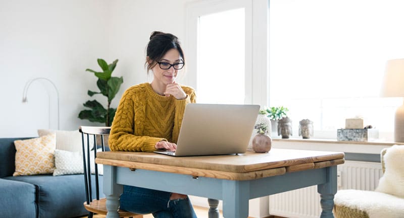
M 199 103 L 244 104 L 244 8 L 199 17 Z

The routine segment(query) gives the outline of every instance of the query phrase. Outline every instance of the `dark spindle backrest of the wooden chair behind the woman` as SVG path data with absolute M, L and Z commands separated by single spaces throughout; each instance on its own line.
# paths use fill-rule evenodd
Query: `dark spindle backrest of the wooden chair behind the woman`
M 104 137 L 110 134 L 111 127 L 103 126 L 80 126 L 79 131 L 81 132 L 82 139 L 82 152 L 83 152 L 83 169 L 84 169 L 84 183 L 86 192 L 87 204 L 92 201 L 92 187 L 91 187 L 91 169 L 94 169 L 94 179 L 95 179 L 95 199 L 99 200 L 99 174 L 98 166 L 95 163 L 95 158 L 97 157 L 97 150 L 100 147 L 101 151 L 105 151 Z M 97 137 L 100 137 L 100 143 L 97 144 Z M 91 154 L 92 153 L 92 154 Z M 92 157 L 91 157 L 92 156 Z M 92 165 L 92 166 L 91 166 Z

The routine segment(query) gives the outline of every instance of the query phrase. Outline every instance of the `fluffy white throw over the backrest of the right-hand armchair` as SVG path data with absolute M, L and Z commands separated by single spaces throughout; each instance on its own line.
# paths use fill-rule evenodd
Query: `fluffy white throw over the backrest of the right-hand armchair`
M 384 155 L 386 170 L 379 180 L 376 191 L 404 198 L 404 146 L 394 145 Z

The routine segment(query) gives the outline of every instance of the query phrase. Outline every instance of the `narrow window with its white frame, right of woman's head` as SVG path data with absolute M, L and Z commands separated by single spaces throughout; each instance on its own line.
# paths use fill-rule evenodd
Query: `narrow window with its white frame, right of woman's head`
M 268 12 L 265 11 L 266 15 Z M 256 15 L 252 12 L 251 0 L 187 3 L 188 67 L 184 83 L 195 88 L 198 103 L 251 104 L 257 99 L 255 93 L 267 94 L 266 91 L 257 92 L 258 88 L 253 85 L 252 71 L 256 66 L 252 64 L 252 19 Z M 262 29 L 266 29 L 267 23 L 263 24 Z M 262 44 L 267 45 L 267 38 Z M 262 62 L 261 66 L 266 67 L 266 61 Z M 267 68 L 264 71 L 267 74 Z

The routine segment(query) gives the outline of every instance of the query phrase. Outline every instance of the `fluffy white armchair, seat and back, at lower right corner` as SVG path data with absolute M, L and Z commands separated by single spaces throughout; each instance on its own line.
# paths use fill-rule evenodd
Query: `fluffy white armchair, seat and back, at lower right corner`
M 357 208 L 370 218 L 404 218 L 404 146 L 394 145 L 384 155 L 384 175 L 375 191 L 339 190 L 335 204 Z

